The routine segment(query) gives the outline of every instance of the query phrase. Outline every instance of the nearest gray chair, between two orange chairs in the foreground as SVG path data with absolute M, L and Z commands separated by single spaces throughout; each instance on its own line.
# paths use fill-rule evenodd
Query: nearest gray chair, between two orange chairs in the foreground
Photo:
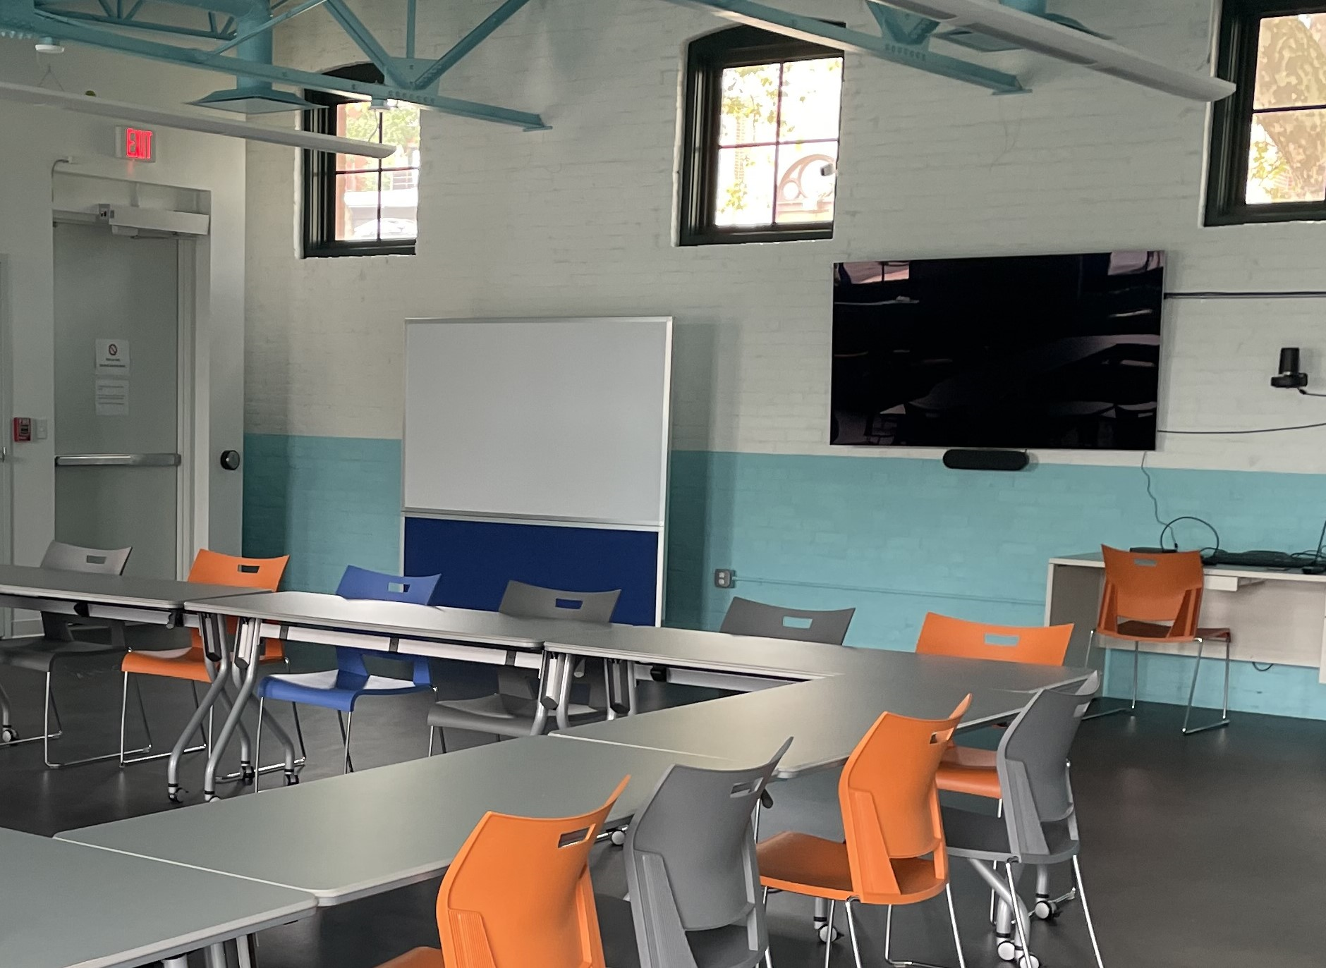
M 751 769 L 674 765 L 626 830 L 630 902 L 595 898 L 613 968 L 753 968 L 765 956 L 754 809 L 789 739 Z M 627 912 L 625 908 L 630 907 Z M 623 924 L 634 930 L 634 951 Z

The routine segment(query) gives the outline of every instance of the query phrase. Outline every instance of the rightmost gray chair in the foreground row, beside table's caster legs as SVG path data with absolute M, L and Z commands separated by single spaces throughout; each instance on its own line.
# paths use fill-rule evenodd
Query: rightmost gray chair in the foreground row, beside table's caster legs
M 1095 696 L 1099 674 L 1078 690 L 1041 690 L 1009 725 L 998 745 L 1002 817 L 944 808 L 944 838 L 949 857 L 967 858 L 1000 899 L 994 930 L 998 956 L 1020 968 L 1038 961 L 1028 947 L 1029 916 L 1017 895 L 1014 865 L 1048 867 L 1071 861 L 1091 949 L 1103 968 L 1095 926 L 1086 902 L 1078 853 L 1077 810 L 1069 782 L 1069 748 L 1082 715 Z M 997 874 L 1004 866 L 1004 878 Z M 884 952 L 887 959 L 888 952 Z

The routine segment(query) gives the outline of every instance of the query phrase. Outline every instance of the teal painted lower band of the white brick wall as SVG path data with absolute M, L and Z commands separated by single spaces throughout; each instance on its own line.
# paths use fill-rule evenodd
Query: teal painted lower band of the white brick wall
M 289 552 L 286 586 L 330 590 L 354 562 L 399 561 L 400 442 L 247 436 L 244 546 Z M 849 642 L 911 648 L 927 610 L 1040 623 L 1046 561 L 1106 542 L 1154 544 L 1136 467 L 1040 464 L 1021 473 L 955 472 L 936 460 L 678 451 L 672 455 L 667 621 L 717 627 L 731 591 L 804 607 L 855 606 Z M 1152 469 L 1167 518 L 1200 514 L 1227 548 L 1314 546 L 1326 476 Z M 1184 546 L 1211 541 L 1200 526 Z M 1119 656 L 1122 658 L 1122 656 Z M 1143 656 L 1143 699 L 1183 703 L 1192 659 Z M 1106 690 L 1123 695 L 1130 662 Z M 1219 703 L 1219 667 L 1199 701 Z M 1237 709 L 1326 719 L 1317 671 L 1236 663 Z

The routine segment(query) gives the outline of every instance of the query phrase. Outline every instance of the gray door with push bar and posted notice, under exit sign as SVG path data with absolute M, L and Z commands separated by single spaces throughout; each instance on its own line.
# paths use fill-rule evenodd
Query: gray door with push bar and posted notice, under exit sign
M 188 537 L 182 245 L 54 227 L 56 540 L 133 546 L 125 574 L 154 578 Z

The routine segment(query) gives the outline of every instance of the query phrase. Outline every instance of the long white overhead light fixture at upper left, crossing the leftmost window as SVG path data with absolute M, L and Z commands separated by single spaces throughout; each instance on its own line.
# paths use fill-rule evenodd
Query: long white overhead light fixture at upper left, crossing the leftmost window
M 363 155 L 366 158 L 390 158 L 396 152 L 395 145 L 351 141 L 350 138 L 335 138 L 330 134 L 297 131 L 288 127 L 261 127 L 241 121 L 227 121 L 212 114 L 184 114 L 182 111 L 168 111 L 162 107 L 130 105 L 122 101 L 107 101 L 86 94 L 48 90 L 46 88 L 32 88 L 25 84 L 9 84 L 7 81 L 0 81 L 0 101 L 45 105 L 48 107 L 60 107 L 82 114 L 99 114 L 105 118 L 131 121 L 141 125 L 178 127 L 184 131 L 219 134 L 227 138 L 260 141 L 268 145 L 286 145 L 296 149 L 308 149 L 309 151 L 330 151 L 342 155 Z

